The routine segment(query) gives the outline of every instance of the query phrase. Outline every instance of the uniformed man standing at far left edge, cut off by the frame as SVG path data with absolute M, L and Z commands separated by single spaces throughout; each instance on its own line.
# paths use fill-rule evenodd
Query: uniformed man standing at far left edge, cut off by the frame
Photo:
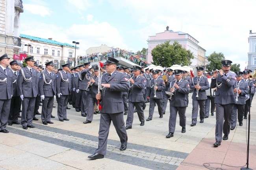
M 0 132 L 9 133 L 6 130 L 8 122 L 11 97 L 13 95 L 13 73 L 8 66 L 10 65 L 10 58 L 7 54 L 0 57 Z

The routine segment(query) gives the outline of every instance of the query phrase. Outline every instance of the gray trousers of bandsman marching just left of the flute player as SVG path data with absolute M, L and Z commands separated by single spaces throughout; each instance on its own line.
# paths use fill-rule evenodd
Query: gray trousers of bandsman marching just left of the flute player
M 205 101 L 206 100 L 193 100 L 192 99 L 192 105 L 193 105 L 193 110 L 192 110 L 192 123 L 197 124 L 197 115 L 198 115 L 198 104 L 199 104 L 199 115 L 200 115 L 200 120 L 204 120 L 205 117 Z

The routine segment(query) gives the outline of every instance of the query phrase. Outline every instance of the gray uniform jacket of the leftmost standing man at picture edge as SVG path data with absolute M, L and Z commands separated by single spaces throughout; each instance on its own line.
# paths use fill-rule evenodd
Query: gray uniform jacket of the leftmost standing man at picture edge
M 6 80 L 4 81 L 4 79 Z M 5 72 L 0 67 L 0 99 L 11 99 L 11 95 L 13 95 L 13 71 L 10 68 L 6 68 Z

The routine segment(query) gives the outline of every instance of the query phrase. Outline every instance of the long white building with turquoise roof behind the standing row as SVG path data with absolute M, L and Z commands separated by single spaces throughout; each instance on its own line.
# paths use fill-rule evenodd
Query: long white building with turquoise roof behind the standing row
M 54 41 L 52 38 L 45 39 L 24 34 L 20 34 L 20 38 L 22 48 L 20 53 L 34 56 L 39 65 L 44 66 L 46 62 L 54 60 L 56 68 L 67 62 L 74 66 L 75 46 Z

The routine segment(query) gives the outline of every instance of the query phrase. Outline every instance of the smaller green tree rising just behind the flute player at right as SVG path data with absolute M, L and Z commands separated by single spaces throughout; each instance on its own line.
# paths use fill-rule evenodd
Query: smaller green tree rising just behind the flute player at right
M 224 59 L 225 59 L 225 57 L 224 57 L 223 53 L 216 53 L 214 51 L 208 57 L 208 61 L 210 62 L 210 64 L 206 65 L 207 70 L 214 71 L 216 69 L 221 69 L 221 61 Z

